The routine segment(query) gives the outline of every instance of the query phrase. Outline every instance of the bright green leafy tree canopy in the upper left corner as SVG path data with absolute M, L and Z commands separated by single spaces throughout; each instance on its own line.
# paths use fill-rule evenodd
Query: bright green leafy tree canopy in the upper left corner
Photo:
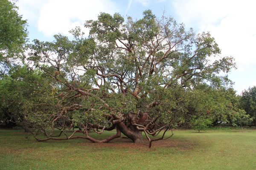
M 13 65 L 26 43 L 26 20 L 17 13 L 17 6 L 9 0 L 0 1 L 0 71 Z M 12 61 L 12 62 L 11 62 Z

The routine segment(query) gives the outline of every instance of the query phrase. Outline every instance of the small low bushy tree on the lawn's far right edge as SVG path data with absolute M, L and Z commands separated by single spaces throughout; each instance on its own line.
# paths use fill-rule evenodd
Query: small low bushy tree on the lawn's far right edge
M 250 118 L 250 115 L 246 114 L 244 110 L 239 110 L 238 114 L 232 119 L 232 125 L 241 127 L 243 130 L 244 126 L 250 125 L 252 121 L 253 118 Z

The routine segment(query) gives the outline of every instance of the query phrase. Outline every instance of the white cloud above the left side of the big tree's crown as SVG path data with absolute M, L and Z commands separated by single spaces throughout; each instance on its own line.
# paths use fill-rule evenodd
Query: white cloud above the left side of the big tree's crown
M 83 28 L 86 20 L 96 20 L 100 12 L 113 14 L 115 8 L 111 0 L 49 0 L 41 8 L 38 30 L 46 36 L 68 34 L 76 26 Z

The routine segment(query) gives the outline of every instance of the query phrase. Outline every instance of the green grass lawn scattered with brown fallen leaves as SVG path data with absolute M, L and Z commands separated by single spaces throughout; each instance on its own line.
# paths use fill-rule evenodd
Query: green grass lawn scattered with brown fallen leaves
M 256 169 L 256 130 L 174 133 L 168 140 L 153 142 L 149 149 L 147 143 L 133 144 L 127 139 L 109 144 L 83 139 L 36 142 L 22 130 L 0 130 L 0 170 Z

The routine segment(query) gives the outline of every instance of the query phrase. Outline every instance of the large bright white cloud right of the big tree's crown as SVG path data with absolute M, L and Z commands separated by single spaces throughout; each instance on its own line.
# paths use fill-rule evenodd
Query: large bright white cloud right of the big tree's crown
M 186 25 L 210 31 L 222 54 L 235 57 L 238 69 L 256 65 L 256 1 L 175 0 L 173 5 Z

